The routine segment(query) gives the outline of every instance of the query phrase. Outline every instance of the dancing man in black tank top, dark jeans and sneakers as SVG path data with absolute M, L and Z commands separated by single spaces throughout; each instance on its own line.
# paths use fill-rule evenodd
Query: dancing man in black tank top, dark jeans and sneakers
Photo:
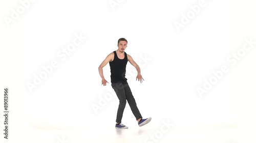
M 106 85 L 108 81 L 105 80 L 103 76 L 103 67 L 106 64 L 110 64 L 111 69 L 111 86 L 116 92 L 116 95 L 119 99 L 119 106 L 117 110 L 117 118 L 116 118 L 116 128 L 127 129 L 128 127 L 121 124 L 123 110 L 126 105 L 126 100 L 129 103 L 132 112 L 138 122 L 138 125 L 141 127 L 151 121 L 151 118 L 142 119 L 140 111 L 137 107 L 131 89 L 127 83 L 127 79 L 125 78 L 125 68 L 127 61 L 129 61 L 137 70 L 138 75 L 136 80 L 142 82 L 144 80 L 140 74 L 140 67 L 135 63 L 132 56 L 126 54 L 124 52 L 127 47 L 127 40 L 124 38 L 120 38 L 117 42 L 118 49 L 116 51 L 111 52 L 108 56 L 106 56 L 105 60 L 99 66 L 99 75 L 101 77 L 101 83 L 103 86 Z M 109 83 L 109 82 L 108 82 Z

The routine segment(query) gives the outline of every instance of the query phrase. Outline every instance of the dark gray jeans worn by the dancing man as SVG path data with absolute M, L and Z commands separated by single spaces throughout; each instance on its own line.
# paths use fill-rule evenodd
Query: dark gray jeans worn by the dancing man
M 121 123 L 126 100 L 130 105 L 136 120 L 142 118 L 128 83 L 111 83 L 111 85 L 119 99 L 116 122 Z

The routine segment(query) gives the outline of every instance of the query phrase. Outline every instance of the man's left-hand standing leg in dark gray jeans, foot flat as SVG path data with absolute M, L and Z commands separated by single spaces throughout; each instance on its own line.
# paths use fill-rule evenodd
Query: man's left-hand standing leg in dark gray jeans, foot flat
M 119 99 L 119 106 L 117 110 L 116 123 L 121 123 L 123 117 L 123 110 L 126 105 L 125 91 L 122 83 L 112 83 L 112 88 L 116 92 L 116 95 Z

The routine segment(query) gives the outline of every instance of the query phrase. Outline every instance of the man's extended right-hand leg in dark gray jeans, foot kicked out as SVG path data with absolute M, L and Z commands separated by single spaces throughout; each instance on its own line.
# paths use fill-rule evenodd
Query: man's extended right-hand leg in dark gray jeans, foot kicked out
M 142 116 L 141 116 L 140 111 L 137 107 L 137 104 L 136 104 L 136 101 L 133 97 L 132 91 L 131 91 L 131 89 L 130 89 L 130 87 L 127 83 L 123 84 L 123 87 L 124 87 L 127 102 L 129 103 L 129 105 L 132 109 L 133 115 L 135 116 L 136 120 L 139 122 L 139 120 L 142 119 Z

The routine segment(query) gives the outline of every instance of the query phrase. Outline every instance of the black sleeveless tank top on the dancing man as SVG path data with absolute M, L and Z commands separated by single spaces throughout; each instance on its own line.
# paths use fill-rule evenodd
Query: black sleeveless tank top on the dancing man
M 127 54 L 124 52 L 124 59 L 119 59 L 116 51 L 114 52 L 114 60 L 110 63 L 110 71 L 111 71 L 111 83 L 127 83 L 127 79 L 125 78 L 126 72 L 126 64 L 128 62 Z

